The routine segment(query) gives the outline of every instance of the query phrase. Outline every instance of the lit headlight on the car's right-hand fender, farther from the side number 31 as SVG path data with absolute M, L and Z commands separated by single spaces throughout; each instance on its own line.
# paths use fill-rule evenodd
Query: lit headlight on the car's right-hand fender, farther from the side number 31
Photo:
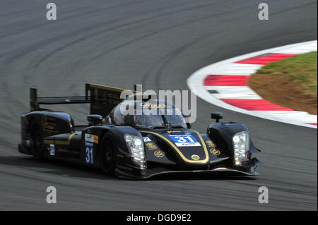
M 249 133 L 247 133 L 247 131 L 236 133 L 232 138 L 232 142 L 234 149 L 234 163 L 236 166 L 241 166 L 242 162 L 247 160 Z

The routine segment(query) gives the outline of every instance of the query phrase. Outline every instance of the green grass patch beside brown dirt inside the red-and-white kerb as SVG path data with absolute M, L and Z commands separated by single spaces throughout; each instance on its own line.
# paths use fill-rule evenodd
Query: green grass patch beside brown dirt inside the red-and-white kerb
M 317 99 L 317 51 L 269 63 L 257 73 L 288 76 L 295 85 L 302 85 L 304 95 Z

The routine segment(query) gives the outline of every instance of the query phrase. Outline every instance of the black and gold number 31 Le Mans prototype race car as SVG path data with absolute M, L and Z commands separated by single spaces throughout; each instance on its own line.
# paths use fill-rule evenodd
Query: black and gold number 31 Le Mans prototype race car
M 160 174 L 257 175 L 259 152 L 240 123 L 215 123 L 207 133 L 191 129 L 187 115 L 174 104 L 156 99 L 120 99 L 123 89 L 86 84 L 83 97 L 37 97 L 30 88 L 30 112 L 21 116 L 18 151 L 36 159 L 66 159 L 102 169 L 121 178 L 142 179 Z M 88 93 L 90 95 L 88 95 Z M 136 92 L 134 92 L 136 94 Z M 42 109 L 45 104 L 90 104 L 88 125 L 75 126 L 63 111 Z M 143 113 L 122 114 L 122 104 L 139 105 Z M 172 114 L 149 115 L 147 110 Z

